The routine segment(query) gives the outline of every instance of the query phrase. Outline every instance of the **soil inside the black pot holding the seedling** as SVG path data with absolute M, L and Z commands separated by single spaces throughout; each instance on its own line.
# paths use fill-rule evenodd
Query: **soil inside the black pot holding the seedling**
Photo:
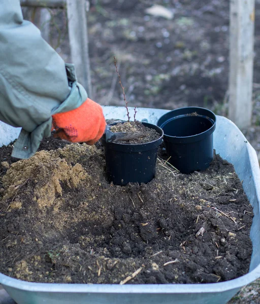
M 120 143 L 124 144 L 142 144 L 146 142 L 151 142 L 158 139 L 161 135 L 157 133 L 154 129 L 145 127 L 141 122 L 120 122 L 114 126 L 111 126 L 110 131 L 112 132 L 127 132 L 135 133 L 139 137 L 129 140 L 120 140 Z

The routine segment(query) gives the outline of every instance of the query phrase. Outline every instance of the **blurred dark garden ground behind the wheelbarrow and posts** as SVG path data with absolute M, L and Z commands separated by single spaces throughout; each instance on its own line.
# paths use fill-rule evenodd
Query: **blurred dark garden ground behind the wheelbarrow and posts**
M 148 14 L 163 6 L 172 19 Z M 32 9 L 25 19 L 37 23 Z M 67 15 L 50 10 L 49 43 L 70 59 Z M 44 24 L 38 24 L 43 29 Z M 124 105 L 113 56 L 129 105 L 174 109 L 203 106 L 228 115 L 229 1 L 92 0 L 88 12 L 93 94 L 103 105 Z M 255 4 L 252 125 L 242 130 L 260 160 L 260 0 Z M 244 288 L 232 304 L 260 303 L 260 281 Z

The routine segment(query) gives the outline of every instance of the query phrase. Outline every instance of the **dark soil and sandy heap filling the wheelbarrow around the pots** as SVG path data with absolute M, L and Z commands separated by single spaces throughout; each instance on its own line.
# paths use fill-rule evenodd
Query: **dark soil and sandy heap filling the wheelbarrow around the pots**
M 248 272 L 253 211 L 233 166 L 218 155 L 189 175 L 158 159 L 148 184 L 116 186 L 107 182 L 100 146 L 48 139 L 41 149 L 13 162 L 12 146 L 0 148 L 2 273 L 101 284 L 126 283 L 134 273 L 128 283 L 155 284 Z

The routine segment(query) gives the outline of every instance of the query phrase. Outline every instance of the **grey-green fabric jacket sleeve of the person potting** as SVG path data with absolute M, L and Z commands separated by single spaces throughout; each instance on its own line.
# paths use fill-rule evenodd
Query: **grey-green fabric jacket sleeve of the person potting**
M 86 98 L 74 66 L 23 20 L 19 0 L 0 0 L 0 120 L 22 127 L 12 156 L 34 155 L 51 134 L 51 116 L 79 107 Z

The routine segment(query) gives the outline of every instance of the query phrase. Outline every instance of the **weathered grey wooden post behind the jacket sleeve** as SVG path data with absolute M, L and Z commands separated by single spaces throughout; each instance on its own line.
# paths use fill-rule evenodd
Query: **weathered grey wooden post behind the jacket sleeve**
M 88 56 L 87 2 L 67 0 L 71 59 L 75 64 L 78 81 L 91 97 L 90 63 Z

